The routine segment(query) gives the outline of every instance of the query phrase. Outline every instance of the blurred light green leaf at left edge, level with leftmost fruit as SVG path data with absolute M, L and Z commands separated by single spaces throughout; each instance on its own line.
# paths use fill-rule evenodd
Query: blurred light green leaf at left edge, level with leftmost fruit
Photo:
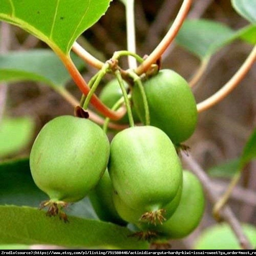
M 0 157 L 17 153 L 31 140 L 34 122 L 29 117 L 3 118 L 0 123 Z

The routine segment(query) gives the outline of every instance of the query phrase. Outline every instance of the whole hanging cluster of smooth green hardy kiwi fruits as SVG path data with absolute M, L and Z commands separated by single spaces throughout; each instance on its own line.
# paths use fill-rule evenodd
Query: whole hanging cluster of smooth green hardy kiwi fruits
M 113 84 L 101 95 L 110 107 L 120 98 L 107 102 L 107 88 L 118 91 Z M 124 129 L 111 144 L 88 119 L 60 116 L 43 127 L 31 150 L 30 167 L 34 182 L 50 197 L 43 203 L 49 214 L 57 215 L 66 203 L 89 195 L 100 219 L 133 223 L 144 237 L 182 238 L 198 225 L 204 210 L 202 186 L 191 172 L 182 171 L 174 146 L 195 129 L 194 97 L 186 81 L 171 70 L 148 79 L 144 89 L 152 126 Z M 132 99 L 144 122 L 136 85 Z

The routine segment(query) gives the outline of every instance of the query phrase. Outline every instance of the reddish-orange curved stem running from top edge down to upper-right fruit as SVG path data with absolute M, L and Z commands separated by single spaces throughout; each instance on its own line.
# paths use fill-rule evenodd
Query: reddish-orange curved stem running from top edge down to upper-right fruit
M 157 45 L 157 47 L 153 50 L 153 52 L 146 58 L 143 64 L 138 66 L 137 69 L 135 70 L 135 72 L 138 75 L 143 74 L 146 70 L 148 70 L 148 68 L 161 57 L 163 52 L 171 44 L 172 40 L 175 38 L 176 34 L 181 28 L 182 23 L 187 16 L 191 4 L 192 0 L 183 0 L 179 13 L 177 14 L 167 34 L 164 36 L 162 41 Z

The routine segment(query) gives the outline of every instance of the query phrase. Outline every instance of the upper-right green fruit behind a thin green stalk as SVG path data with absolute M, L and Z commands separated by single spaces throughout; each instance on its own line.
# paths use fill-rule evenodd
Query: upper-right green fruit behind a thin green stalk
M 163 69 L 144 82 L 150 113 L 150 124 L 160 128 L 179 144 L 187 140 L 197 124 L 195 98 L 186 80 L 176 72 Z M 145 111 L 139 87 L 132 92 L 134 107 L 145 123 Z

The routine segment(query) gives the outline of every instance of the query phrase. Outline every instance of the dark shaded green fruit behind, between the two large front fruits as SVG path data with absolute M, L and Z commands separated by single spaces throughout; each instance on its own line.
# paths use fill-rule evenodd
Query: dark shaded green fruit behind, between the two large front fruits
M 106 170 L 98 184 L 90 191 L 89 198 L 100 220 L 125 226 L 127 222 L 123 221 L 116 212 L 113 192 L 113 185 Z

